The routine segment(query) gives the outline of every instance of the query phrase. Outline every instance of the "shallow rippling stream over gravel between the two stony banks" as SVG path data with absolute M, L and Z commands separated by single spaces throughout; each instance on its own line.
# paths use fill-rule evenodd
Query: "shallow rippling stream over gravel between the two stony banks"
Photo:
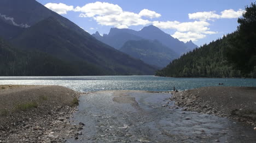
M 183 111 L 169 93 L 102 91 L 80 96 L 72 123 L 83 122 L 67 142 L 255 142 L 241 122 Z

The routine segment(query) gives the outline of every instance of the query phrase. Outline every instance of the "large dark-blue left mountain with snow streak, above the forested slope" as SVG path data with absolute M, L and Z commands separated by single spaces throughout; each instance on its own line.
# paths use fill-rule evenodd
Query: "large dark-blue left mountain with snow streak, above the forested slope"
M 22 53 L 47 54 L 53 60 L 80 65 L 70 66 L 73 70 L 86 71 L 79 75 L 154 74 L 155 71 L 155 67 L 98 41 L 34 0 L 1 0 L 0 31 L 11 48 Z M 54 75 L 57 74 L 51 74 Z

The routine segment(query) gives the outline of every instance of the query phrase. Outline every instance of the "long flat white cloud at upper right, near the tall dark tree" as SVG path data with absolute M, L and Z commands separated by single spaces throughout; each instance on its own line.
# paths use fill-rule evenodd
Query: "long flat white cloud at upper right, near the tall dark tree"
M 219 18 L 238 18 L 242 16 L 243 13 L 245 13 L 245 10 L 239 9 L 235 11 L 233 9 L 228 9 L 228 10 L 223 10 L 220 13 L 221 15 L 216 14 L 216 11 L 204 11 L 204 12 L 197 12 L 197 13 L 188 14 L 188 15 L 190 20 L 214 21 L 215 19 L 219 19 Z

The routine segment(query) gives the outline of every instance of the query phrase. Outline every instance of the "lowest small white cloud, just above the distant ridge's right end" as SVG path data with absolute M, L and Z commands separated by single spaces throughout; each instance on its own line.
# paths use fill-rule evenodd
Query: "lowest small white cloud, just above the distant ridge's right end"
M 173 35 L 174 38 L 179 39 L 180 41 L 187 42 L 192 40 L 193 42 L 197 41 L 198 39 L 203 39 L 206 37 L 205 34 L 200 33 L 193 33 L 193 32 L 175 32 Z

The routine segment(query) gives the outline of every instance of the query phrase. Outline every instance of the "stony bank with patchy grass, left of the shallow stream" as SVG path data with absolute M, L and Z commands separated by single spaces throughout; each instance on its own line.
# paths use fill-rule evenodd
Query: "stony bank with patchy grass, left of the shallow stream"
M 62 86 L 0 85 L 0 142 L 65 142 L 83 125 L 72 125 L 79 92 Z

